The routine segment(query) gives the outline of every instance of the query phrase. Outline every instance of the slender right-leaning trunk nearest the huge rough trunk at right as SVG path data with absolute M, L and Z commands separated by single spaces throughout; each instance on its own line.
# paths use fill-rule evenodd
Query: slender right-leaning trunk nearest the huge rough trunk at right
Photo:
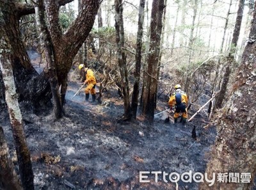
M 234 61 L 234 54 L 236 52 L 237 41 L 239 38 L 241 23 L 243 20 L 243 8 L 244 8 L 244 0 L 240 0 L 238 11 L 237 11 L 236 24 L 234 27 L 233 38 L 230 46 L 230 52 L 227 58 L 228 59 L 227 67 L 225 70 L 225 74 L 223 75 L 223 82 L 221 84 L 220 93 L 216 99 L 216 108 L 218 109 L 222 107 L 223 100 L 225 100 L 225 97 L 226 97 L 225 94 L 227 94 L 226 91 L 227 91 L 229 76 L 231 72 L 232 63 Z

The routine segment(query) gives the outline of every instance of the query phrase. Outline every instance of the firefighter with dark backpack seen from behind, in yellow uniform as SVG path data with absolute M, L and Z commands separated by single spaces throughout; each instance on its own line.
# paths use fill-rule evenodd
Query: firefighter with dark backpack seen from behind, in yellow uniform
M 170 97 L 170 100 L 168 102 L 170 108 L 172 109 L 173 106 L 175 106 L 174 111 L 174 123 L 178 122 L 178 118 L 180 113 L 182 113 L 182 118 L 180 119 L 180 122 L 184 125 L 186 123 L 186 120 L 188 118 L 188 96 L 184 91 L 182 91 L 180 84 L 175 85 L 175 93 Z

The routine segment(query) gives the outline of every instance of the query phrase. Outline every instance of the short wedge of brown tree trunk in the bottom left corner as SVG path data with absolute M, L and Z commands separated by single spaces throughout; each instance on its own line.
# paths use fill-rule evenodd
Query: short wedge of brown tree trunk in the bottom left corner
M 10 159 L 9 149 L 0 126 L 0 189 L 22 190 L 20 180 Z

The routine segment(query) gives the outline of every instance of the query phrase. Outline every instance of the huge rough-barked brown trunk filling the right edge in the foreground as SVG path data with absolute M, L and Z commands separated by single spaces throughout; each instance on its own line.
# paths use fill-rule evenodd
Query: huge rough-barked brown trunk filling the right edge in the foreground
M 239 182 L 215 182 L 209 187 L 206 182 L 200 189 L 251 189 L 256 170 L 256 4 L 249 41 L 243 53 L 236 81 L 223 114 L 218 122 L 218 136 L 212 148 L 211 161 L 207 164 L 209 177 L 215 173 L 239 173 Z M 242 173 L 247 182 L 241 182 Z

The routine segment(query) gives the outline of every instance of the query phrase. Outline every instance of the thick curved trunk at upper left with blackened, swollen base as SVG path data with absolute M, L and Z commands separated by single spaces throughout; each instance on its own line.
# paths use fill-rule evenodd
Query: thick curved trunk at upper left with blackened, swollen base
M 45 102 L 51 99 L 51 96 L 45 92 L 51 91 L 51 88 L 47 83 L 48 79 L 44 78 L 45 75 L 38 76 L 29 61 L 20 36 L 19 7 L 17 7 L 13 0 L 0 0 L 0 9 L 4 10 L 4 12 L 1 11 L 1 19 L 4 20 L 1 27 L 6 31 L 12 48 L 12 57 L 10 60 L 15 86 L 19 94 L 19 101 L 30 101 L 33 108 L 45 106 Z M 44 93 L 43 96 L 42 93 Z

